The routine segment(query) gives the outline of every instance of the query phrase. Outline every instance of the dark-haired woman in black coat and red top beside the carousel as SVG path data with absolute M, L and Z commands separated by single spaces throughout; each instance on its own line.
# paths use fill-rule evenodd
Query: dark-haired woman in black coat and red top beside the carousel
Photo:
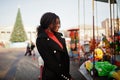
M 44 61 L 42 80 L 72 80 L 65 39 L 59 28 L 60 19 L 55 13 L 47 12 L 41 17 L 36 46 Z

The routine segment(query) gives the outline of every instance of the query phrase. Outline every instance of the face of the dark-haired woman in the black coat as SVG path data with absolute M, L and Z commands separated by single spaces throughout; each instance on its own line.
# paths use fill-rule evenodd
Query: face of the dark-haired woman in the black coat
M 60 20 L 57 18 L 55 22 L 50 24 L 49 28 L 52 32 L 58 32 L 60 28 Z

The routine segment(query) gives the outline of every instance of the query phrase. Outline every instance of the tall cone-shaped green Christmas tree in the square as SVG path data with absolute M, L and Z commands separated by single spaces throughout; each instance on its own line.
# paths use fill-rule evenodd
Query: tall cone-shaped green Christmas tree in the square
M 27 40 L 27 35 L 26 35 L 26 32 L 24 30 L 24 26 L 22 23 L 20 8 L 18 8 L 16 22 L 15 22 L 15 25 L 14 25 L 14 28 L 13 28 L 13 31 L 11 34 L 10 41 L 11 42 L 24 42 L 26 40 Z

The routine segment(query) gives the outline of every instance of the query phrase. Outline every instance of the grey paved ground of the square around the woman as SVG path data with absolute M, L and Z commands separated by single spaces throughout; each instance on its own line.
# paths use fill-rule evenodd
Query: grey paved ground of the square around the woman
M 24 56 L 25 49 L 0 48 L 0 80 L 38 80 L 38 57 Z M 70 73 L 74 80 L 87 80 L 79 71 L 78 62 L 70 61 Z

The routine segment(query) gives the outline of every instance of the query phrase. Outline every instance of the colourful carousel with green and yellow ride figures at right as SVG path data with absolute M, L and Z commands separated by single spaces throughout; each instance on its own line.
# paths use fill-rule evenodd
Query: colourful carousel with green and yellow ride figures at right
M 94 0 L 92 0 L 93 7 L 93 38 L 90 40 L 90 55 L 83 63 L 86 71 L 90 74 L 93 80 L 120 80 L 120 31 L 119 24 L 113 28 L 111 5 L 118 6 L 117 0 L 96 0 L 110 3 L 110 35 L 102 34 L 100 42 L 95 39 L 94 32 Z M 114 13 L 113 13 L 114 14 Z M 117 15 L 117 21 L 119 18 Z M 81 66 L 79 69 L 81 72 Z M 85 73 L 83 73 L 85 74 Z M 86 73 L 87 74 L 87 73 Z

